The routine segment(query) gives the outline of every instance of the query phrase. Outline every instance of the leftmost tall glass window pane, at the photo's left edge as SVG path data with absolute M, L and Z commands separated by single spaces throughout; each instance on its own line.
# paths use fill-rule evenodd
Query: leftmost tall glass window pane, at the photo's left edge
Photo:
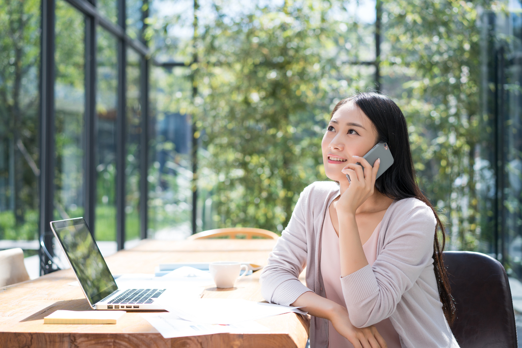
M 39 219 L 40 1 L 2 2 L 0 18 L 0 239 L 31 240 Z M 39 266 L 28 271 L 38 275 Z

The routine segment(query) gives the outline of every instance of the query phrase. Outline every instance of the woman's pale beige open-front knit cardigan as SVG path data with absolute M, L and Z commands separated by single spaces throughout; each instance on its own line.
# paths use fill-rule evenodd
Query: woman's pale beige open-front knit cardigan
M 334 182 L 304 189 L 260 278 L 266 301 L 290 305 L 307 291 L 326 297 L 321 277 L 321 234 L 326 208 L 339 195 Z M 422 201 L 394 201 L 384 214 L 377 259 L 341 278 L 350 320 L 367 327 L 390 318 L 402 347 L 458 347 L 442 311 L 433 271 L 436 220 Z M 306 286 L 299 274 L 306 267 Z M 328 346 L 328 322 L 312 317 L 312 348 Z

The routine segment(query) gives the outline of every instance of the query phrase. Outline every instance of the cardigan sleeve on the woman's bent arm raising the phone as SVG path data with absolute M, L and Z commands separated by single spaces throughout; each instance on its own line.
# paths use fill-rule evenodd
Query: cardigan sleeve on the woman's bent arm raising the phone
M 417 205 L 392 219 L 373 266 L 341 278 L 350 320 L 359 328 L 392 315 L 402 294 L 411 289 L 424 269 L 433 269 L 436 220 L 431 208 Z

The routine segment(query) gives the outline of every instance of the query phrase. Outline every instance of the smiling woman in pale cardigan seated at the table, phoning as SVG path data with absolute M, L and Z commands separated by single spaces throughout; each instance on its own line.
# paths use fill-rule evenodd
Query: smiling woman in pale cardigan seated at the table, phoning
M 394 164 L 375 179 L 379 160 L 362 157 L 381 141 Z M 337 184 L 301 193 L 261 275 L 265 299 L 313 316 L 312 348 L 458 347 L 436 235 L 438 226 L 444 241 L 444 228 L 415 182 L 399 107 L 377 93 L 341 100 L 322 150 Z

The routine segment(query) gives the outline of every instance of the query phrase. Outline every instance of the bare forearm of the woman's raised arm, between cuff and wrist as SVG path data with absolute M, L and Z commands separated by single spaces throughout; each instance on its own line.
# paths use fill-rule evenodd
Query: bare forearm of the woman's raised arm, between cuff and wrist
M 341 277 L 368 265 L 354 214 L 339 214 L 339 254 Z

